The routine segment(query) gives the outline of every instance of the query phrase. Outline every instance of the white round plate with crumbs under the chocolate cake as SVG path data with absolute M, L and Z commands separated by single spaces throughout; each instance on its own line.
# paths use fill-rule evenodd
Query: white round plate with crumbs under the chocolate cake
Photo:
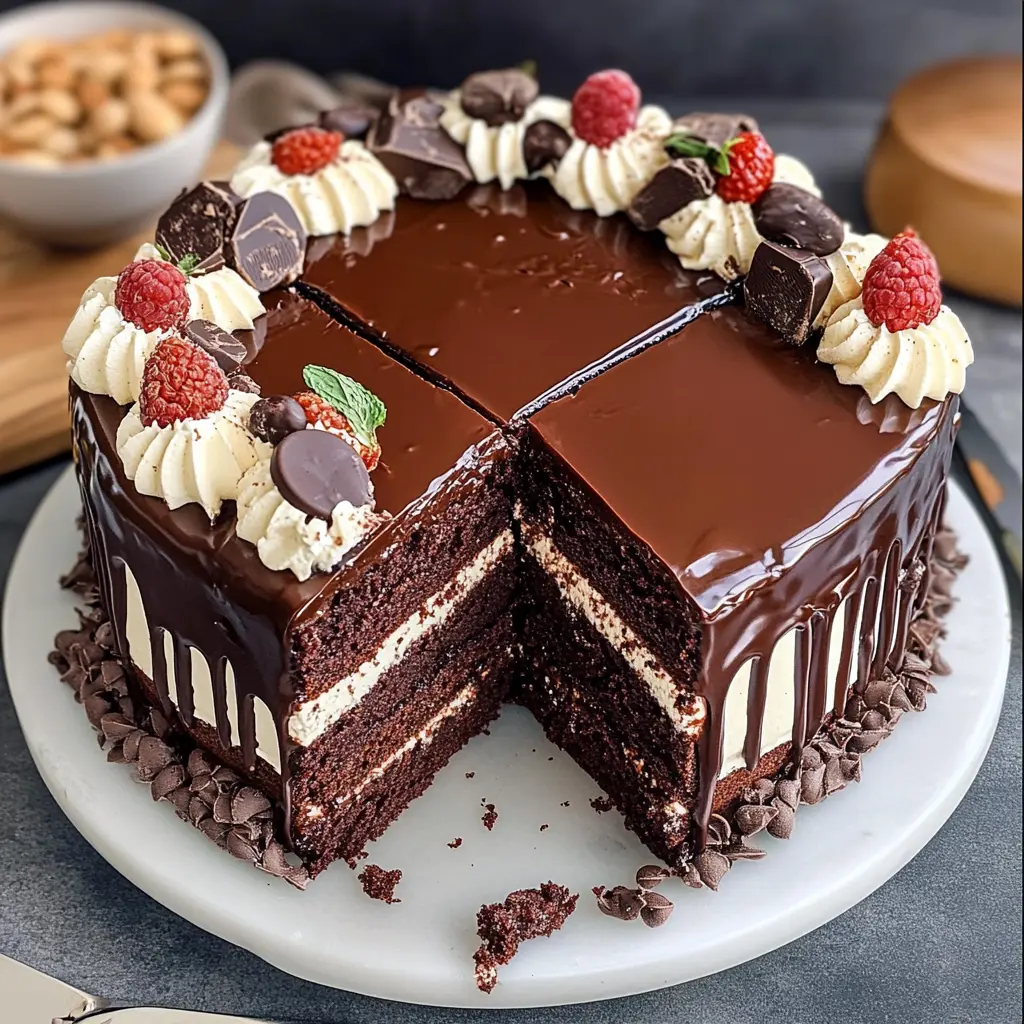
M 1002 702 L 1006 585 L 981 520 L 954 486 L 949 520 L 971 563 L 943 648 L 953 674 L 937 681 L 925 714 L 906 715 L 867 756 L 859 785 L 801 809 L 790 842 L 765 837 L 769 855 L 737 864 L 718 893 L 667 882 L 677 911 L 665 927 L 600 914 L 591 887 L 632 884 L 651 856 L 615 812 L 595 813 L 594 783 L 518 708 L 460 752 L 371 847 L 368 863 L 401 868 L 400 903 L 368 899 L 344 864 L 301 893 L 217 849 L 122 765 L 108 764 L 46 664 L 54 633 L 75 622 L 56 581 L 78 548 L 78 507 L 69 470 L 25 535 L 4 606 L 7 676 L 50 792 L 100 854 L 175 913 L 291 974 L 370 995 L 465 1007 L 583 1001 L 677 984 L 775 949 L 863 899 L 935 835 L 974 779 Z M 498 810 L 493 831 L 480 821 L 483 803 Z M 451 849 L 456 837 L 462 845 Z M 548 879 L 581 893 L 577 912 L 552 938 L 525 943 L 482 995 L 471 958 L 477 908 Z

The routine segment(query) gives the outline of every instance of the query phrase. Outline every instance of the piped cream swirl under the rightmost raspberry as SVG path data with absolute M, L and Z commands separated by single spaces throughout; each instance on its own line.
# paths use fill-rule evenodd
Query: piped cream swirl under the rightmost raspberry
M 971 339 L 948 306 L 931 324 L 890 331 L 867 318 L 859 295 L 833 313 L 817 354 L 840 383 L 859 384 L 872 402 L 895 394 L 911 409 L 959 394 L 974 362 Z

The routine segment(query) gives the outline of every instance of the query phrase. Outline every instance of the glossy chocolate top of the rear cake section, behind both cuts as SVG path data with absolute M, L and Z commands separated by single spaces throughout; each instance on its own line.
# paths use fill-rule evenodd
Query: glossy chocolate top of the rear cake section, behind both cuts
M 304 280 L 499 419 L 722 287 L 546 182 L 400 199 L 386 222 L 311 246 Z

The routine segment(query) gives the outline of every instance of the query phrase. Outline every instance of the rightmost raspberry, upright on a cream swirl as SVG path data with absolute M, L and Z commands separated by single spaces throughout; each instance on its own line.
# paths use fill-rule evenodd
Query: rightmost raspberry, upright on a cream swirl
M 861 300 L 867 318 L 890 331 L 921 327 L 938 316 L 939 264 L 911 228 L 892 239 L 868 264 Z

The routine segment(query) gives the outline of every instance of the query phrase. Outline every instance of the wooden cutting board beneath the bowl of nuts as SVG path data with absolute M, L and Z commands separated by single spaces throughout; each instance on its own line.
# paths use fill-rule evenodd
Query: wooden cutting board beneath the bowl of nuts
M 238 157 L 236 146 L 221 142 L 208 176 L 227 177 Z M 87 253 L 55 252 L 0 221 L 0 473 L 70 446 L 60 339 L 86 287 L 117 273 L 152 237 Z

